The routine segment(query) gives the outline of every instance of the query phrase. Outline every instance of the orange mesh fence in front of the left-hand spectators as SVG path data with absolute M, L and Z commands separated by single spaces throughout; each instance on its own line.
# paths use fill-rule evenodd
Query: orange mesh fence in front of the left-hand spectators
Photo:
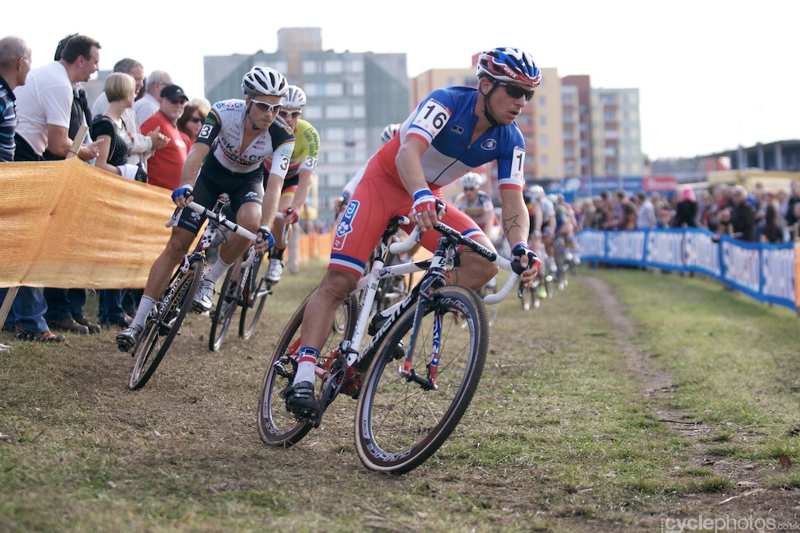
M 0 288 L 144 287 L 171 229 L 166 189 L 78 158 L 0 165 Z M 326 261 L 330 234 L 303 236 L 301 261 Z

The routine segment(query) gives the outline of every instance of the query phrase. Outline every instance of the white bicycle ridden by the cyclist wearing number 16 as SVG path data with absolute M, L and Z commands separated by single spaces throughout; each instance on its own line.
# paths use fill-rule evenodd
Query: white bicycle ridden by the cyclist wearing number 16
M 266 444 L 290 446 L 317 428 L 330 403 L 343 392 L 358 399 L 355 444 L 372 471 L 402 474 L 422 464 L 453 432 L 481 378 L 489 343 L 484 302 L 475 292 L 447 285 L 455 250 L 466 246 L 506 270 L 506 285 L 487 303 L 505 298 L 517 285 L 521 267 L 441 222 L 434 257 L 384 266 L 386 254 L 400 254 L 416 242 L 418 229 L 390 245 L 406 217 L 394 219 L 383 233 L 370 271 L 342 302 L 336 324 L 320 351 L 316 376 L 319 411 L 306 418 L 286 411 L 286 392 L 294 381 L 300 328 L 309 298 L 294 312 L 266 368 L 258 408 L 258 433 Z M 381 315 L 366 340 L 367 324 L 379 280 L 422 273 L 406 298 Z M 361 295 L 358 300 L 357 295 Z

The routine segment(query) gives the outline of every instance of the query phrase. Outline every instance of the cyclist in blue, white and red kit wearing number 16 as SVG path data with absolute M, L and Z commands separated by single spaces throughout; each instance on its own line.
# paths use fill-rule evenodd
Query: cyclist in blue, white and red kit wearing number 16
M 478 225 L 452 206 L 438 209 L 441 188 L 489 161 L 496 161 L 502 201 L 502 227 L 514 256 L 526 267 L 530 285 L 538 257 L 528 249 L 528 212 L 522 199 L 525 141 L 514 120 L 522 113 L 541 74 L 528 54 L 497 48 L 478 57 L 478 88 L 436 89 L 394 138 L 370 160 L 361 182 L 338 222 L 330 264 L 311 296 L 302 320 L 302 348 L 293 386 L 286 392 L 286 409 L 307 415 L 318 411 L 314 398 L 314 367 L 319 349 L 330 334 L 336 309 L 358 283 L 366 261 L 388 222 L 398 215 L 412 218 L 425 233 L 420 243 L 436 248 L 439 220 L 494 249 Z M 413 226 L 403 228 L 410 232 Z M 462 253 L 450 282 L 477 289 L 498 267 L 474 253 Z

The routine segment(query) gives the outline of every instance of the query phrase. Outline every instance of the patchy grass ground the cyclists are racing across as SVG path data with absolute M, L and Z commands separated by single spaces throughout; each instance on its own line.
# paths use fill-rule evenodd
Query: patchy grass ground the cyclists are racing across
M 375 475 L 346 396 L 298 446 L 258 439 L 266 360 L 322 271 L 284 276 L 254 338 L 218 353 L 190 316 L 138 392 L 114 332 L 66 346 L 0 334 L 14 344 L 0 354 L 0 531 L 691 531 L 701 516 L 800 529 L 794 312 L 700 277 L 582 265 L 541 308 L 500 305 L 454 434 L 410 474 Z

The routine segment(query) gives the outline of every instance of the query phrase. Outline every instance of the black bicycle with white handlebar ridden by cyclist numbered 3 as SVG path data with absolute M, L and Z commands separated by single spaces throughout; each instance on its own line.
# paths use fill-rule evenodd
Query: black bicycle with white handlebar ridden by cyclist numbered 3
M 164 296 L 158 300 L 153 311 L 147 316 L 145 327 L 134 347 L 130 349 L 134 356 L 134 370 L 130 374 L 128 387 L 136 390 L 145 386 L 153 376 L 158 364 L 170 349 L 175 336 L 180 334 L 181 324 L 186 319 L 186 314 L 192 307 L 192 298 L 198 291 L 202 281 L 203 268 L 206 265 L 206 249 L 214 241 L 219 228 L 226 228 L 238 233 L 242 237 L 255 240 L 256 236 L 247 229 L 229 221 L 222 215 L 222 207 L 227 203 L 228 195 L 223 193 L 218 198 L 214 209 L 206 209 L 196 202 L 190 202 L 188 207 L 208 219 L 208 225 L 194 249 L 194 253 L 183 256 L 181 264 L 176 268 Z M 172 226 L 178 221 L 180 209 L 175 212 L 166 223 Z M 122 348 L 121 348 L 122 349 Z M 123 349 L 123 351 L 126 351 Z

